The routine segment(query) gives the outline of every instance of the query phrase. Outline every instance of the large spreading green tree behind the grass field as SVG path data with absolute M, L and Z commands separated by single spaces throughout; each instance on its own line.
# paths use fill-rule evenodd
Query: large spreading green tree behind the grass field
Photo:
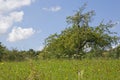
M 50 35 L 45 40 L 44 57 L 53 58 L 79 58 L 87 54 L 87 49 L 94 56 L 102 56 L 102 52 L 117 44 L 118 37 L 110 28 L 115 24 L 99 23 L 98 26 L 90 26 L 94 11 L 83 13 L 85 5 L 82 6 L 73 16 L 67 17 L 67 22 L 72 24 L 60 34 Z

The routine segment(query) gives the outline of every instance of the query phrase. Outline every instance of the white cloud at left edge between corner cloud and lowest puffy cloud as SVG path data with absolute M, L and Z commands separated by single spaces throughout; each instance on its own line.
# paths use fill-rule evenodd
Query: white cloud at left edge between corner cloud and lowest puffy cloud
M 0 34 L 4 34 L 13 25 L 14 22 L 20 22 L 23 19 L 24 12 L 11 12 L 8 16 L 0 17 Z

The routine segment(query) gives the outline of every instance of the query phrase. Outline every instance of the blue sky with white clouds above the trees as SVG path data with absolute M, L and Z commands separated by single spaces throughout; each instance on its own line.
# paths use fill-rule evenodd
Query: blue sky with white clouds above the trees
M 0 42 L 7 48 L 40 50 L 50 34 L 68 27 L 66 17 L 84 3 L 95 10 L 92 25 L 120 22 L 119 0 L 0 0 Z M 120 25 L 112 30 L 120 35 Z

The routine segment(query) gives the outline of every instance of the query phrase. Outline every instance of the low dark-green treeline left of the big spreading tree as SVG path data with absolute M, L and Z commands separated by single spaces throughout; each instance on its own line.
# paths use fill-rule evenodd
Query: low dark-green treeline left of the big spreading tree
M 40 51 L 29 49 L 28 51 L 19 51 L 17 49 L 9 50 L 0 42 L 0 61 L 25 61 L 29 59 L 38 59 Z

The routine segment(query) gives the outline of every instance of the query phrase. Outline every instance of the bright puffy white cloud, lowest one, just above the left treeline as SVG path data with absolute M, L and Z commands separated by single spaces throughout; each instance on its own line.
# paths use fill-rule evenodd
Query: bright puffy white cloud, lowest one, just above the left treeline
M 33 28 L 13 28 L 12 32 L 8 35 L 7 41 L 15 42 L 19 40 L 24 40 L 31 37 L 34 33 L 35 31 L 33 30 Z

